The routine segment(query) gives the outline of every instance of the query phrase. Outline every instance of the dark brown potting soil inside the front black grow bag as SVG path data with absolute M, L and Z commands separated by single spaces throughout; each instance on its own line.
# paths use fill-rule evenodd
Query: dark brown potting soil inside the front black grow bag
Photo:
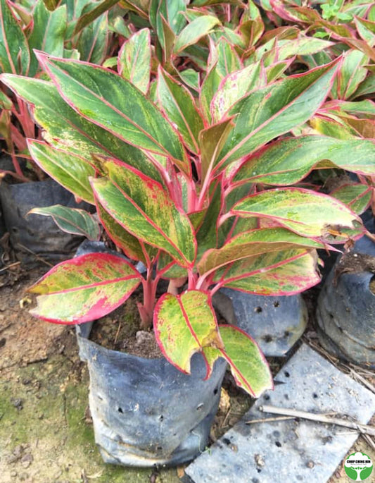
M 155 341 L 153 331 L 140 329 L 140 317 L 136 302 L 141 301 L 141 294 L 133 295 L 114 312 L 96 320 L 91 330 L 91 341 L 107 349 L 118 350 L 146 359 L 163 357 Z

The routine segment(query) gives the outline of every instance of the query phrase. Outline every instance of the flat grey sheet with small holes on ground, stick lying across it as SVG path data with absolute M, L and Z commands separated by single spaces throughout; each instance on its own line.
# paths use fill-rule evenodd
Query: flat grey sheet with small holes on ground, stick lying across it
M 336 412 L 367 424 L 375 394 L 303 344 L 243 419 L 186 468 L 194 483 L 325 483 L 348 456 L 357 434 L 306 420 L 246 424 L 272 417 L 260 405 Z

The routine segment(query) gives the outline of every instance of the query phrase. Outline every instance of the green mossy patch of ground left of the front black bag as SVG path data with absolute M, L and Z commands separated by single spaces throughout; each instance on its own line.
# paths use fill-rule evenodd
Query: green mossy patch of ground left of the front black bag
M 85 367 L 64 355 L 0 379 L 1 483 L 177 483 L 174 469 L 105 465 L 87 414 Z

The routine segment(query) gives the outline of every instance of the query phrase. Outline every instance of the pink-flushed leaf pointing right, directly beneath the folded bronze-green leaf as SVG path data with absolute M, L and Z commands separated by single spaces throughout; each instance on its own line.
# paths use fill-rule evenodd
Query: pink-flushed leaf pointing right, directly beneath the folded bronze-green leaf
M 319 283 L 317 254 L 293 249 L 248 257 L 218 269 L 212 281 L 258 295 L 293 295 Z

